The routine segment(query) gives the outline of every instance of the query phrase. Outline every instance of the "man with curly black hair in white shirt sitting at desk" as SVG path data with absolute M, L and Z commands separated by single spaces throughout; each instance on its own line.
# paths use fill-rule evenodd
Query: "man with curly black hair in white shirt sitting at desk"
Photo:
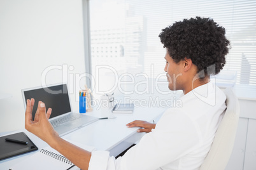
M 157 124 L 134 121 L 145 134 L 123 157 L 108 152 L 87 152 L 62 140 L 54 131 L 45 104 L 38 103 L 32 121 L 34 99 L 27 100 L 25 128 L 46 141 L 81 169 L 199 169 L 222 119 L 225 95 L 210 82 L 225 65 L 229 41 L 225 29 L 210 18 L 190 18 L 163 29 L 159 35 L 166 48 L 166 71 L 169 89 L 183 90 L 182 107 L 166 110 Z M 45 114 L 46 112 L 46 114 Z

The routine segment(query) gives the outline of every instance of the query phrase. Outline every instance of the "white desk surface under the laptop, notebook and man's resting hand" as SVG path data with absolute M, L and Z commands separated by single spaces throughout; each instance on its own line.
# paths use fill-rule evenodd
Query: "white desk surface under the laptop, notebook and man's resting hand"
M 126 148 L 138 141 L 143 134 L 145 134 L 137 133 L 136 131 L 138 128 L 127 128 L 127 126 L 125 126 L 127 123 L 134 120 L 143 120 L 148 122 L 153 122 L 153 120 L 157 121 L 164 110 L 166 110 L 166 108 L 136 107 L 134 108 L 133 114 L 114 114 L 117 116 L 117 118 L 96 121 L 88 126 L 62 136 L 62 138 L 75 141 L 76 143 L 82 143 L 83 145 L 96 147 L 97 150 L 108 150 L 110 151 L 110 155 L 117 156 Z M 108 117 L 111 115 L 111 110 L 94 110 L 93 112 L 87 112 L 86 114 L 95 117 Z M 47 143 L 34 136 L 34 134 L 29 133 L 25 129 L 21 129 L 20 131 L 24 131 L 25 134 L 31 138 L 31 140 L 39 148 L 38 150 L 48 146 Z M 17 132 L 19 131 L 16 131 L 15 133 Z M 36 152 L 1 160 L 0 169 L 9 169 L 11 165 L 27 159 L 27 157 L 35 154 Z

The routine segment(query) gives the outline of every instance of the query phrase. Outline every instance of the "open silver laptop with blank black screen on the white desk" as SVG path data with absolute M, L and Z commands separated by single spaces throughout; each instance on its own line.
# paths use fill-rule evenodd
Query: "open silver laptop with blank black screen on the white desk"
M 33 120 L 38 108 L 38 101 L 45 103 L 46 110 L 49 107 L 52 108 L 49 121 L 60 136 L 71 133 L 98 120 L 96 117 L 72 112 L 67 84 L 53 84 L 45 87 L 22 89 L 22 98 L 25 108 L 27 107 L 27 99 L 34 98 Z

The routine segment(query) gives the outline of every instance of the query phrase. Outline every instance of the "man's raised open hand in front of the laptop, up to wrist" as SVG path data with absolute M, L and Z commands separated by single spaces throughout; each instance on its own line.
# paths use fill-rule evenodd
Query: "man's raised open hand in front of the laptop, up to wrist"
M 34 99 L 32 98 L 31 100 L 27 100 L 27 108 L 25 110 L 25 129 L 41 138 L 41 140 L 46 141 L 49 145 L 53 145 L 55 141 L 53 138 L 59 137 L 59 134 L 53 129 L 52 124 L 48 121 L 52 114 L 52 108 L 48 108 L 46 112 L 45 103 L 39 101 L 33 121 L 33 107 Z

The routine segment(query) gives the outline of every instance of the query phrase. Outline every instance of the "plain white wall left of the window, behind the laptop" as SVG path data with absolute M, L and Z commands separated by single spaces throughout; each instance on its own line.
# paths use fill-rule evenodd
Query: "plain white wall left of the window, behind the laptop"
M 65 69 L 55 69 L 42 78 L 53 65 L 67 67 L 68 76 Z M 67 79 L 73 110 L 78 110 L 75 91 L 85 79 L 74 79 L 84 72 L 82 1 L 0 0 L 0 96 L 12 95 L 0 99 L 0 133 L 24 128 L 21 89 L 43 81 Z

